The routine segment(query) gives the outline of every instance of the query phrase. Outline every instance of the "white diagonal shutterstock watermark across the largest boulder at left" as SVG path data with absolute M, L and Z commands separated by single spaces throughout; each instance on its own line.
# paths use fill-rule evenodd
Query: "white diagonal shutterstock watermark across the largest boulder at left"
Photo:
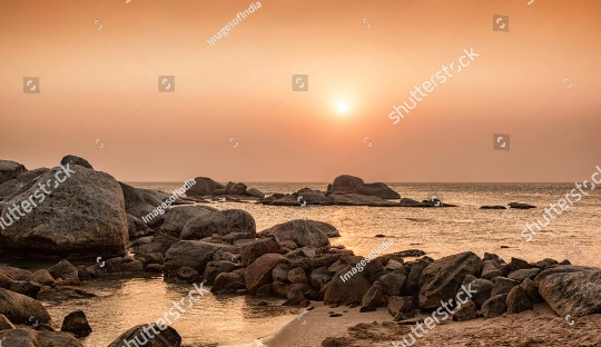
M 60 168 L 61 170 L 57 170 L 57 174 L 55 174 L 56 180 L 55 180 L 53 187 L 51 185 L 52 179 L 49 179 L 46 182 L 38 184 L 39 188 L 36 191 L 33 191 L 33 194 L 30 195 L 28 199 L 22 200 L 21 204 L 19 205 L 17 205 L 17 202 L 13 202 L 12 207 L 10 206 L 7 207 L 8 209 L 7 214 L 4 214 L 2 218 L 0 218 L 0 228 L 2 228 L 2 230 L 6 230 L 6 228 L 12 226 L 14 221 L 21 219 L 21 217 L 24 217 L 27 214 L 31 212 L 33 208 L 38 207 L 38 204 L 42 204 L 43 200 L 46 200 L 46 196 L 49 196 L 52 194 L 52 191 L 49 191 L 47 188 L 57 189 L 62 182 L 67 180 L 67 178 L 71 177 L 71 174 L 77 174 L 77 171 L 73 171 L 69 168 L 69 163 L 67 163 L 67 167 L 60 165 Z M 59 174 L 65 174 L 62 179 L 59 178 Z M 24 214 L 21 211 L 21 208 L 23 209 Z M 17 216 L 16 212 L 18 212 L 19 216 Z

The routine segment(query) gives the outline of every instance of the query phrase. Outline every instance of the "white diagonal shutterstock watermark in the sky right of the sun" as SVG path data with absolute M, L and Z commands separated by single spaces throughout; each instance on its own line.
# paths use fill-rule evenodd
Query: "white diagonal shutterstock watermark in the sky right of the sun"
M 467 49 L 464 48 L 463 52 L 465 52 L 465 54 L 461 56 L 460 59 L 457 59 L 459 61 L 459 66 L 457 66 L 459 69 L 456 71 L 457 73 L 463 71 L 464 68 L 467 68 L 475 60 L 476 57 L 480 57 L 479 53 L 474 53 L 473 47 L 470 48 L 470 51 L 467 51 Z M 405 118 L 405 116 L 408 115 L 411 110 L 417 107 L 417 101 L 423 100 L 421 97 L 416 95 L 417 92 L 420 93 L 420 96 L 425 98 L 427 97 L 428 93 L 434 91 L 434 88 L 439 88 L 439 83 L 442 86 L 446 83 L 446 80 L 449 78 L 454 77 L 455 75 L 449 72 L 449 70 L 454 72 L 454 66 L 455 66 L 454 62 L 451 62 L 450 66 L 445 66 L 443 63 L 442 69 L 439 70 L 436 73 L 432 75 L 428 80 L 422 83 L 422 86 L 414 86 L 414 90 L 410 90 L 410 98 L 408 98 L 411 102 L 413 103 L 413 106 L 410 106 L 407 101 L 403 102 L 402 106 L 393 105 L 394 111 L 388 113 L 388 118 L 394 120 L 393 125 L 396 126 L 401 121 L 401 118 Z M 425 90 L 425 93 L 422 91 L 422 88 Z M 405 113 L 403 115 L 402 111 L 405 111 Z

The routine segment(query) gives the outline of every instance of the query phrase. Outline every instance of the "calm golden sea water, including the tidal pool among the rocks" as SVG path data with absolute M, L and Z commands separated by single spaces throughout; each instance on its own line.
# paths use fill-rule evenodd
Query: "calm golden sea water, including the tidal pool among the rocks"
M 134 184 L 141 188 L 171 191 L 181 184 Z M 293 192 L 300 188 L 325 190 L 327 184 L 247 184 L 264 192 Z M 570 259 L 573 264 L 601 267 L 601 198 L 591 191 L 582 201 L 554 219 L 544 232 L 524 242 L 520 232 L 526 222 L 542 218 L 543 208 L 565 196 L 570 184 L 392 184 L 402 197 L 416 200 L 432 195 L 459 205 L 457 208 L 373 208 L 373 207 L 270 207 L 254 204 L 217 202 L 217 209 L 244 209 L 250 212 L 257 230 L 292 219 L 315 219 L 334 225 L 342 237 L 332 239 L 357 255 L 367 255 L 382 245 L 382 234 L 394 240 L 388 252 L 417 248 L 433 258 L 472 250 L 479 255 L 495 252 L 536 261 L 543 258 Z M 531 210 L 481 210 L 483 205 L 519 201 L 535 205 Z M 93 333 L 86 346 L 107 346 L 128 328 L 155 321 L 179 300 L 189 286 L 169 285 L 161 278 L 91 281 L 86 285 L 99 298 L 48 307 L 60 328 L 62 317 L 82 309 Z M 260 346 L 258 338 L 270 335 L 294 319 L 297 311 L 277 305 L 257 307 L 258 299 L 205 295 L 181 314 L 174 327 L 184 343 L 193 346 L 218 343 L 219 346 Z

